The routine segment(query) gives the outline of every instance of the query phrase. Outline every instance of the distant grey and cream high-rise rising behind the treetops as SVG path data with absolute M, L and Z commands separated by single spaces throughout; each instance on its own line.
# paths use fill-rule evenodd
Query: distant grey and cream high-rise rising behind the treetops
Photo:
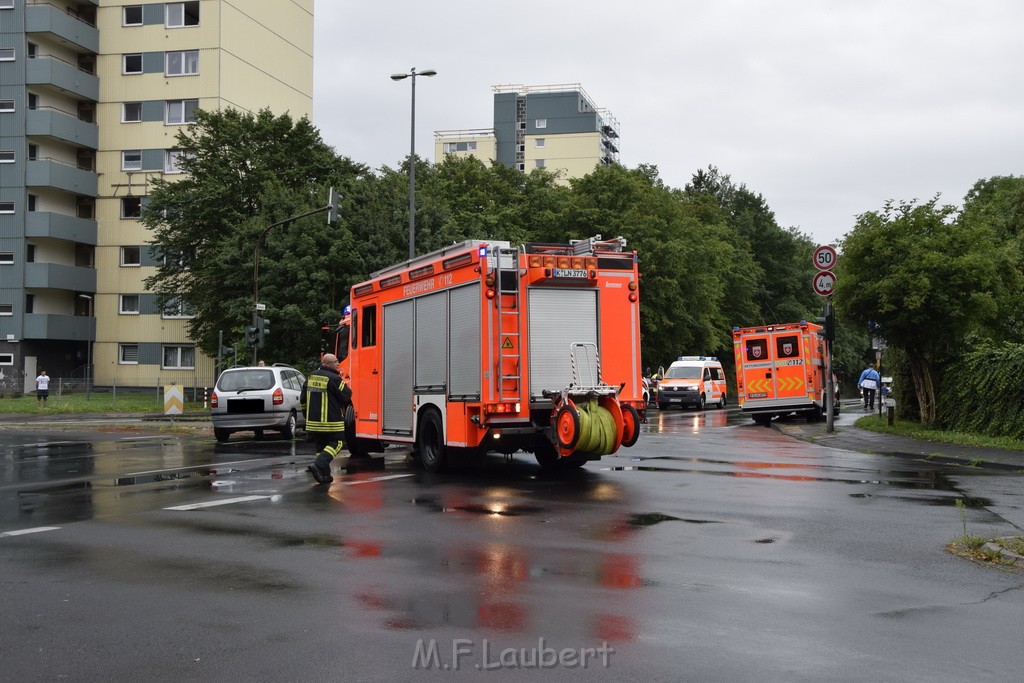
M 492 128 L 434 131 L 434 159 L 472 156 L 567 182 L 618 162 L 618 122 L 579 83 L 496 85 Z

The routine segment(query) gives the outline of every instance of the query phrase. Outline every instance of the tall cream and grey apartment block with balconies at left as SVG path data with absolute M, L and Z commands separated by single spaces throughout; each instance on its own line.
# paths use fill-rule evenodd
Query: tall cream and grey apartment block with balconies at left
M 187 301 L 145 290 L 138 216 L 197 109 L 311 115 L 312 18 L 313 0 L 0 0 L 0 391 L 40 368 L 212 379 Z

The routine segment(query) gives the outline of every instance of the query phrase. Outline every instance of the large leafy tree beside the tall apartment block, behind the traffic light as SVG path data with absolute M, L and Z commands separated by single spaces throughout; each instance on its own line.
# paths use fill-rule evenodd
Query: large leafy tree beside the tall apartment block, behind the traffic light
M 259 298 L 271 321 L 262 354 L 301 362 L 313 357 L 310 330 L 337 317 L 360 263 L 346 213 L 365 167 L 338 157 L 306 118 L 268 110 L 198 112 L 177 136 L 186 175 L 157 179 L 142 212 L 162 259 L 145 286 L 158 301 L 181 297 L 195 309 L 188 334 L 215 355 L 218 334 L 243 343 L 253 313 L 254 245 L 271 223 L 327 204 L 328 187 L 345 199 L 337 228 L 323 214 L 274 228 L 261 248 Z

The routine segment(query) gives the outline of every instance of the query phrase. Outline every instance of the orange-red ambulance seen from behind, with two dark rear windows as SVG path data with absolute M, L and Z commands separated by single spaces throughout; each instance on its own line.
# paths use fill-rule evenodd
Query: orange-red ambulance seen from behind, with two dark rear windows
M 827 347 L 820 325 L 801 322 L 733 328 L 736 397 L 758 424 L 800 413 L 820 419 L 825 411 Z

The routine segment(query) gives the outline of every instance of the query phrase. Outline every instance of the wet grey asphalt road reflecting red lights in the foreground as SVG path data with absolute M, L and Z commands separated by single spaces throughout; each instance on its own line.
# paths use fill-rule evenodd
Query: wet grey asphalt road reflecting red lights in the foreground
M 1019 680 L 1024 574 L 943 547 L 956 499 L 1020 535 L 1020 474 L 649 417 L 561 476 L 330 487 L 301 440 L 8 428 L 0 680 Z

